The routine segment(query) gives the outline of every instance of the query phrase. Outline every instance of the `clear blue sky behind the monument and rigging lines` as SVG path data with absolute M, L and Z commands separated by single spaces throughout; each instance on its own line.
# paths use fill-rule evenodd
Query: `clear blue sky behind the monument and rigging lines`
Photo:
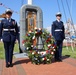
M 60 11 L 63 15 L 62 20 L 65 23 L 66 19 L 64 16 L 61 0 L 58 1 L 60 5 Z M 76 24 L 76 0 L 67 1 L 71 10 L 73 22 L 74 24 Z M 22 5 L 22 0 L 0 0 L 0 3 L 3 3 L 8 8 L 11 8 L 12 10 L 19 12 Z M 23 4 L 27 4 L 27 0 L 23 0 Z M 63 0 L 63 4 L 67 18 L 70 18 L 66 0 Z M 59 11 L 57 0 L 33 0 L 33 5 L 39 6 L 43 11 L 43 27 L 46 28 L 51 26 L 52 21 L 56 19 L 55 14 Z M 5 10 L 6 8 L 0 5 L 0 14 L 2 14 Z M 19 22 L 19 14 L 13 13 L 12 18 Z

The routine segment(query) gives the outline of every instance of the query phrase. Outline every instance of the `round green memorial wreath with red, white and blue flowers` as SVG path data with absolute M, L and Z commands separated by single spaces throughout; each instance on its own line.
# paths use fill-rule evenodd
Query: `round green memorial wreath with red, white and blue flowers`
M 39 38 L 42 41 L 42 49 L 38 47 Z M 51 63 L 57 48 L 53 36 L 46 29 L 41 28 L 35 28 L 26 33 L 22 44 L 25 46 L 28 57 L 33 64 Z

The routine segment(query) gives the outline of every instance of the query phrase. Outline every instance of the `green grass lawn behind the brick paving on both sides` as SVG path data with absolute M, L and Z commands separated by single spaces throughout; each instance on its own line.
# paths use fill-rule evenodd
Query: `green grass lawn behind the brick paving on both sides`
M 14 52 L 19 52 L 18 43 L 15 44 Z M 68 50 L 66 47 L 63 47 L 62 55 L 63 56 L 70 56 L 70 57 L 76 59 L 76 47 L 74 48 L 74 51 L 72 51 L 71 47 L 68 47 Z M 0 59 L 4 59 L 4 57 L 5 57 L 5 55 L 4 55 L 3 43 L 0 42 Z

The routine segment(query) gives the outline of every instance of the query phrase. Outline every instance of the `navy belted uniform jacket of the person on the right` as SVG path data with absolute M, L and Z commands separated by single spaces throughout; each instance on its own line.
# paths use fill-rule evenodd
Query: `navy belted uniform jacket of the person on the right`
M 52 24 L 52 35 L 56 41 L 63 41 L 65 39 L 63 22 L 57 20 Z

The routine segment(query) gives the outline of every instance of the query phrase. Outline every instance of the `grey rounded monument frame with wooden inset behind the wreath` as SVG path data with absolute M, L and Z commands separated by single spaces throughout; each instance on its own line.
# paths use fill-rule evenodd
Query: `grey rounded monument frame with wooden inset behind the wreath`
M 33 0 L 27 0 L 27 5 L 24 4 L 20 9 L 20 47 L 23 51 L 26 50 L 22 41 L 25 40 L 26 33 L 37 28 L 43 28 L 43 12 L 40 7 L 32 4 Z M 33 18 L 31 18 L 33 16 Z M 41 38 L 38 39 L 38 49 L 42 49 Z

